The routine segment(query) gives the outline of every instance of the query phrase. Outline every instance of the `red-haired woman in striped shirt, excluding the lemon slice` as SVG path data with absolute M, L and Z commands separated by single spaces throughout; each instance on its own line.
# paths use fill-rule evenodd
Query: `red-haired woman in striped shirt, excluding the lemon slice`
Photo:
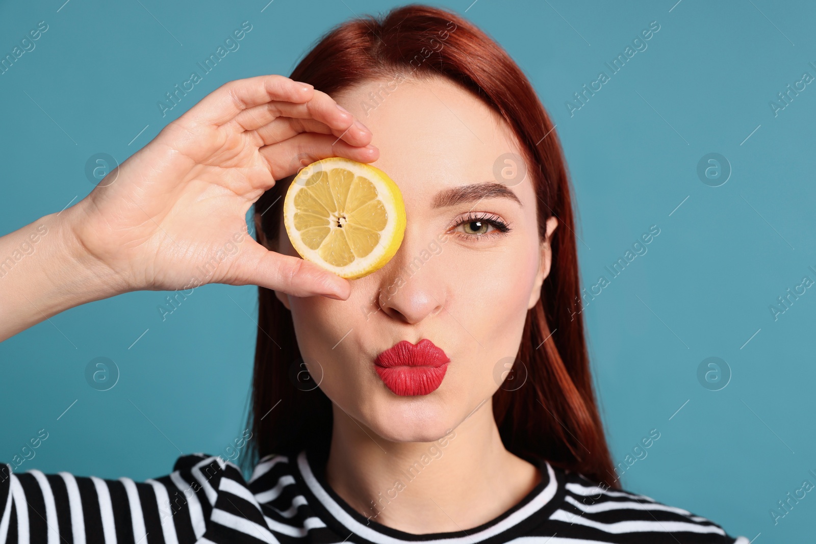
M 0 338 L 202 282 L 259 285 L 260 309 L 249 481 L 205 454 L 138 484 L 7 466 L 0 542 L 747 542 L 619 489 L 552 129 L 485 33 L 402 7 L 333 29 L 291 79 L 214 91 L 83 201 L 2 237 L 7 254 L 53 232 L 0 285 Z M 299 259 L 277 204 L 333 156 L 406 201 L 400 250 L 354 281 Z M 225 258 L 253 204 L 257 243 Z

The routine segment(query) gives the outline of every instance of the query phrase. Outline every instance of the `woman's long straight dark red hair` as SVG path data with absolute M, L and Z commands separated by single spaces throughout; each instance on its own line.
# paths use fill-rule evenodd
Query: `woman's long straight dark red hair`
M 570 180 L 552 122 L 524 73 L 496 42 L 451 11 L 411 4 L 380 17 L 365 15 L 326 33 L 290 77 L 336 95 L 361 80 L 441 76 L 473 91 L 499 113 L 521 144 L 528 178 L 539 199 L 540 236 L 547 219 L 552 268 L 541 298 L 527 314 L 513 369 L 526 367 L 526 383 L 499 388 L 494 418 L 505 448 L 541 457 L 589 479 L 619 488 L 592 388 L 580 300 Z M 256 236 L 274 247 L 282 206 L 268 210 L 288 186 L 278 183 L 255 203 Z M 259 287 L 249 426 L 255 440 L 242 459 L 251 466 L 268 453 L 297 453 L 325 445 L 331 436 L 330 400 L 319 388 L 304 391 L 293 375 L 303 371 L 290 312 L 272 290 Z M 273 339 L 274 338 L 274 339 Z M 274 407 L 274 409 L 273 409 Z M 270 411 L 271 410 L 271 411 Z

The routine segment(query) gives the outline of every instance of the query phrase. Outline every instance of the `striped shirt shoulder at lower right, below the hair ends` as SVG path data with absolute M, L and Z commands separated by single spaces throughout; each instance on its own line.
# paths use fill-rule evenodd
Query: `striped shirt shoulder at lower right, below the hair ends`
M 636 534 L 638 542 L 748 544 L 747 538 L 732 537 L 720 525 L 682 508 L 609 489 L 577 472 L 560 471 L 560 477 L 561 502 L 550 516 L 553 529 L 561 529 L 559 536 L 622 542 L 622 535 Z

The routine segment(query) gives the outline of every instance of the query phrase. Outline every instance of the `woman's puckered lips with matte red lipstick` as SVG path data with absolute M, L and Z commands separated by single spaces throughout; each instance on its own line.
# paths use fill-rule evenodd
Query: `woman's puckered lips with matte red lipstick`
M 395 395 L 428 395 L 436 391 L 445 378 L 450 358 L 428 338 L 416 345 L 401 340 L 380 353 L 375 370 Z

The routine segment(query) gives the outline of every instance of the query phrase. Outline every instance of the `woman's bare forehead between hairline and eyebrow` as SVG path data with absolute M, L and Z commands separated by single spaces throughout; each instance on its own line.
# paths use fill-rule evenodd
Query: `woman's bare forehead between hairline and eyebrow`
M 380 156 L 371 164 L 403 191 L 500 183 L 496 171 L 504 166 L 503 157 L 521 155 L 499 114 L 443 77 L 366 80 L 335 100 L 373 132 Z

